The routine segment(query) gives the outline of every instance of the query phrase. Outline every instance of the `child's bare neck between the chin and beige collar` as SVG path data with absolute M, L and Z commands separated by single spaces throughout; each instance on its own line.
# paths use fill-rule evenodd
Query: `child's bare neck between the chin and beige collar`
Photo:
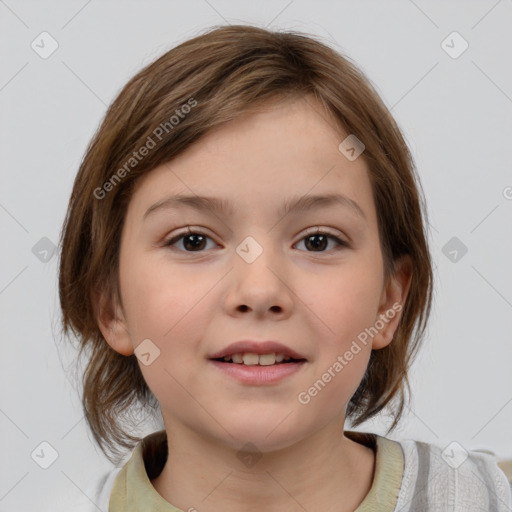
M 169 422 L 166 432 L 170 455 L 152 484 L 182 510 L 353 511 L 371 488 L 374 452 L 341 434 L 339 423 L 265 453 Z

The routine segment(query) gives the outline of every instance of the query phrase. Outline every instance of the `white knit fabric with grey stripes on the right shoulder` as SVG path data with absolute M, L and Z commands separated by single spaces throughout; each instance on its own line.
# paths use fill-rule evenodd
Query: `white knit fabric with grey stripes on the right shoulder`
M 397 510 L 509 511 L 510 483 L 490 452 L 445 447 L 416 440 L 396 441 L 404 454 Z

